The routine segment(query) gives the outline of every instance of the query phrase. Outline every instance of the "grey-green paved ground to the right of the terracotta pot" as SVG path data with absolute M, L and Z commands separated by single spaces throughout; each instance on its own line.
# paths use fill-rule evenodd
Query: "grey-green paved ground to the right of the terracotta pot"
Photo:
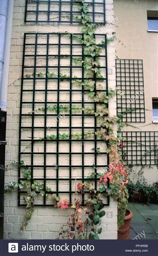
M 158 205 L 129 202 L 128 209 L 133 212 L 130 239 L 158 239 Z

